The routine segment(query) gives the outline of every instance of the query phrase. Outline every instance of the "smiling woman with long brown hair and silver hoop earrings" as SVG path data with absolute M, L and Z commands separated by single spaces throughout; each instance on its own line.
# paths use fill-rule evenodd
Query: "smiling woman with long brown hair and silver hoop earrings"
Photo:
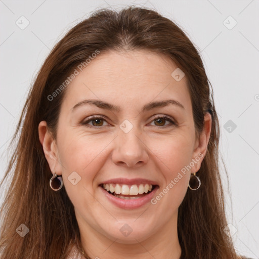
M 209 80 L 189 38 L 155 11 L 99 10 L 72 28 L 15 138 L 1 258 L 241 258 Z

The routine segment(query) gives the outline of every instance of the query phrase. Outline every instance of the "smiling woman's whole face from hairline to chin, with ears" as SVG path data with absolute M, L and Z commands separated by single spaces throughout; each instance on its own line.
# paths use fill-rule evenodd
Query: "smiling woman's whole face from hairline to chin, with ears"
M 68 85 L 57 139 L 48 132 L 40 139 L 52 172 L 62 175 L 81 230 L 134 243 L 176 222 L 210 133 L 207 127 L 195 139 L 187 78 L 172 77 L 176 68 L 148 51 L 101 53 Z M 42 127 L 44 122 L 40 132 Z M 115 197 L 103 183 L 135 199 Z M 136 187 L 140 197 L 127 195 Z

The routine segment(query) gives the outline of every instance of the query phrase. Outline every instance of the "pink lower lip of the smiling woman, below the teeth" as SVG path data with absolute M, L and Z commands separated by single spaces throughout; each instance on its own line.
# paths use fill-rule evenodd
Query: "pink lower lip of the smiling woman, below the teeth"
M 159 188 L 156 186 L 154 190 L 147 195 L 137 198 L 137 199 L 132 199 L 132 200 L 124 200 L 120 199 L 118 197 L 113 196 L 112 194 L 108 193 L 106 190 L 104 190 L 101 186 L 99 186 L 102 189 L 102 192 L 104 195 L 110 200 L 114 205 L 116 205 L 119 208 L 124 208 L 124 209 L 133 209 L 133 208 L 139 208 L 146 203 L 150 202 L 153 196 L 155 195 L 155 192 Z

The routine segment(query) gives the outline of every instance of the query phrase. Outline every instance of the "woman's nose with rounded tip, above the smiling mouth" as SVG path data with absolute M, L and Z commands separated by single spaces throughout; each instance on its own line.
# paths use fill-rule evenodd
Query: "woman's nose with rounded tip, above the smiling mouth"
M 148 147 L 141 138 L 141 133 L 135 128 L 133 127 L 128 133 L 119 130 L 114 140 L 115 147 L 112 153 L 112 160 L 115 164 L 134 167 L 147 163 Z

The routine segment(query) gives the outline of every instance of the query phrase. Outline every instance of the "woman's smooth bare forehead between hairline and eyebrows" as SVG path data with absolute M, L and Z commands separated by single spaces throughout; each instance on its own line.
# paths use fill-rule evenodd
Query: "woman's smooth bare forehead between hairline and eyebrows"
M 184 100 L 189 96 L 187 78 L 176 81 L 171 76 L 177 68 L 165 55 L 145 50 L 101 52 L 71 81 L 63 102 L 72 106 L 95 98 L 123 106 L 170 96 L 188 106 L 190 100 Z

